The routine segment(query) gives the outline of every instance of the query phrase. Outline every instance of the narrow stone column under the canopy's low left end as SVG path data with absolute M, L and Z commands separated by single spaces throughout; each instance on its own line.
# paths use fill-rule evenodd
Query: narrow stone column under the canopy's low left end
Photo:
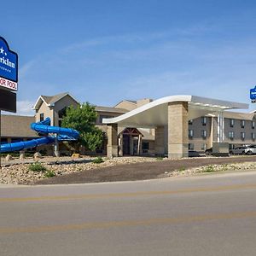
M 118 156 L 118 125 L 111 124 L 107 126 L 108 134 L 108 146 L 107 146 L 107 156 L 109 158 Z

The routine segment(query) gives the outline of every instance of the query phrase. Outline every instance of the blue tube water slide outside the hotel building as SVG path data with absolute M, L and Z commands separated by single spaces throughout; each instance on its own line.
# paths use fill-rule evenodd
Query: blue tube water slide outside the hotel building
M 44 119 L 42 122 L 32 123 L 31 129 L 37 131 L 44 137 L 33 139 L 28 142 L 19 143 L 5 143 L 1 145 L 1 153 L 20 151 L 26 148 L 35 148 L 41 145 L 55 143 L 55 139 L 58 141 L 75 141 L 79 138 L 79 131 L 62 128 L 58 126 L 50 126 L 50 119 Z M 49 136 L 50 134 L 50 136 Z

